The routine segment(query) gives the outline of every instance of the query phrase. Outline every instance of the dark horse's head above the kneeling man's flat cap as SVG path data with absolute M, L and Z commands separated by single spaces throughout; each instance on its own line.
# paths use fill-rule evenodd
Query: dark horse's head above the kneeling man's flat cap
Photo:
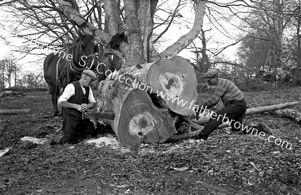
M 88 69 L 93 70 L 98 62 L 98 58 L 95 56 L 95 53 L 98 52 L 98 45 L 94 43 L 94 34 L 91 36 L 79 33 L 76 48 L 79 48 L 77 50 L 79 53 L 75 55 L 79 56 L 80 65 L 85 65 Z

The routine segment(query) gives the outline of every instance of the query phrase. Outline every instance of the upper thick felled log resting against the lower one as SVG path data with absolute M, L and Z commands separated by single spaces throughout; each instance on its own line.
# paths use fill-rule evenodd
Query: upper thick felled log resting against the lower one
M 180 56 L 161 59 L 153 63 L 127 67 L 118 71 L 120 74 L 131 75 L 136 88 L 147 86 L 156 106 L 167 108 L 182 116 L 191 116 L 197 100 L 197 76 L 190 62 Z M 190 105 L 192 103 L 192 105 Z

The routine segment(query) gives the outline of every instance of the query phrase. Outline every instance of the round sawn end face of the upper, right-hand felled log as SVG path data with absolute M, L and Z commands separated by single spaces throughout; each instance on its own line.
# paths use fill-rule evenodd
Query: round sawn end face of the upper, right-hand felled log
M 149 67 L 146 81 L 168 109 L 184 116 L 193 114 L 191 105 L 198 98 L 197 76 L 188 60 L 180 56 L 158 60 Z

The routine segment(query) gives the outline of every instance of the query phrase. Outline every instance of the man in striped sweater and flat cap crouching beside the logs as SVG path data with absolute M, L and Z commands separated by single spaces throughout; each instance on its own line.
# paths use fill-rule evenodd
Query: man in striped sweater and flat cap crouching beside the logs
M 219 125 L 226 122 L 225 120 L 229 120 L 233 133 L 246 134 L 249 133 L 248 129 L 255 128 L 258 132 L 272 134 L 272 132 L 268 130 L 264 124 L 258 124 L 255 127 L 248 127 L 244 125 L 243 127 L 242 119 L 247 110 L 247 104 L 242 92 L 234 83 L 227 79 L 219 78 L 217 70 L 209 70 L 203 77 L 209 85 L 216 85 L 216 90 L 209 100 L 199 106 L 197 115 L 206 109 L 210 109 L 215 106 L 219 99 L 222 100 L 225 107 L 216 112 L 217 117 L 210 118 L 207 125 L 197 136 L 199 139 L 202 141 L 207 140 L 209 135 L 216 130 Z

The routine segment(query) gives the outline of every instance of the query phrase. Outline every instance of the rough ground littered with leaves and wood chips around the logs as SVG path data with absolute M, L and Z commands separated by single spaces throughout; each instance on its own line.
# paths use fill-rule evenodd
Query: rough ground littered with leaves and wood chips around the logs
M 245 117 L 265 122 L 288 149 L 252 135 L 217 130 L 206 142 L 188 139 L 163 144 L 96 147 L 33 144 L 24 136 L 45 138 L 61 126 L 45 91 L 1 98 L 1 109 L 31 109 L 30 114 L 0 115 L 0 194 L 301 194 L 301 124 L 271 112 Z M 212 91 L 200 93 L 198 102 Z M 298 101 L 301 88 L 244 92 L 249 107 Z M 301 105 L 293 109 L 301 111 Z M 220 102 L 213 110 L 222 107 Z M 98 126 L 98 137 L 113 136 Z

